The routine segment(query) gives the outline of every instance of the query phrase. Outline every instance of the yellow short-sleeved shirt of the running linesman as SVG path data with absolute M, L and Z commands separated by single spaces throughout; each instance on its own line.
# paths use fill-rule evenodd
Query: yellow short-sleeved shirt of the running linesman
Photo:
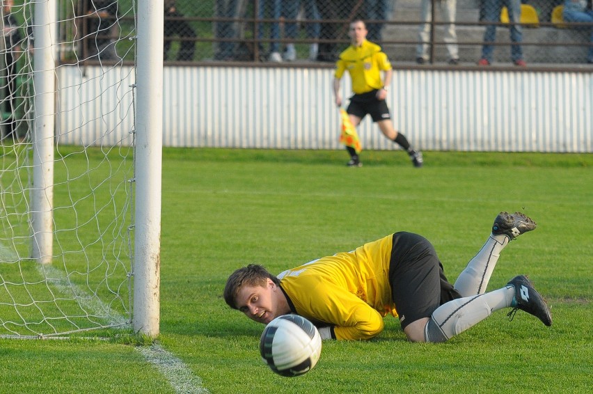
M 361 94 L 383 87 L 381 71 L 391 70 L 391 63 L 379 45 L 364 40 L 360 47 L 350 45 L 340 54 L 334 77 L 341 79 L 346 70 L 352 79 L 352 90 Z

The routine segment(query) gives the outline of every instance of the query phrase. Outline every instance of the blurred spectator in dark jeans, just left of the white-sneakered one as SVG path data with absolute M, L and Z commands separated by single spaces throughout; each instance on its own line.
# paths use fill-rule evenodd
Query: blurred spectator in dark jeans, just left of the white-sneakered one
M 214 15 L 221 19 L 237 18 L 245 14 L 246 0 L 216 0 Z M 216 38 L 239 38 L 239 24 L 230 20 L 217 21 L 214 24 Z M 221 61 L 235 60 L 237 56 L 237 43 L 231 40 L 216 42 L 214 59 Z

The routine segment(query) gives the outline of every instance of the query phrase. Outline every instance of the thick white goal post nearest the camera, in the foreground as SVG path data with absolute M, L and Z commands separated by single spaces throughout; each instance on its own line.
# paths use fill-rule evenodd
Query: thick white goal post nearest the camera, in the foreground
M 159 334 L 164 8 L 138 4 L 134 331 Z

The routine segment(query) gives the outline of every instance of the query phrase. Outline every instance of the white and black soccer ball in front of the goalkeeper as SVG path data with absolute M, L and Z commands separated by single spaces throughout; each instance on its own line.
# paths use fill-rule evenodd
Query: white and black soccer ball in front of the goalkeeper
M 321 342 L 313 323 L 299 315 L 283 315 L 264 329 L 260 354 L 278 375 L 295 377 L 315 367 L 321 355 Z

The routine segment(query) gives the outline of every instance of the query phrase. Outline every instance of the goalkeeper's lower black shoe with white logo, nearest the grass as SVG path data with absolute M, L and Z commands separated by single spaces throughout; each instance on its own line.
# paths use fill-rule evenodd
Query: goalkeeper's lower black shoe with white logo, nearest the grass
M 552 315 L 546 305 L 546 301 L 544 301 L 544 297 L 541 297 L 541 295 L 535 291 L 527 276 L 515 276 L 509 283 L 507 283 L 507 286 L 508 285 L 515 288 L 515 297 L 511 304 L 513 310 L 507 315 L 509 320 L 513 320 L 517 309 L 521 309 L 530 315 L 537 317 L 546 326 L 552 325 Z

